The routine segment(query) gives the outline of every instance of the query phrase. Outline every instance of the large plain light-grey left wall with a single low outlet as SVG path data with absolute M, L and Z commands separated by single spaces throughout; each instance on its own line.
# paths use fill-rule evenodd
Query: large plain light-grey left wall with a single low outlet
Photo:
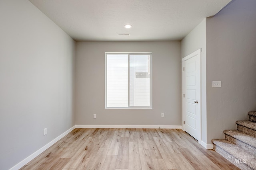
M 75 42 L 28 0 L 1 0 L 0 21 L 0 169 L 7 170 L 74 126 Z

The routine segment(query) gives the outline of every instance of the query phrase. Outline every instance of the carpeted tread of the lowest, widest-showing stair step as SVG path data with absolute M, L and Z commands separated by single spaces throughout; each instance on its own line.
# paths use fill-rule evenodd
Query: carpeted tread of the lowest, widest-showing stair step
M 241 158 L 242 160 L 246 158 L 245 164 L 252 169 L 256 169 L 256 156 L 251 152 L 248 152 L 225 139 L 213 139 L 212 143 L 234 156 L 234 158 Z

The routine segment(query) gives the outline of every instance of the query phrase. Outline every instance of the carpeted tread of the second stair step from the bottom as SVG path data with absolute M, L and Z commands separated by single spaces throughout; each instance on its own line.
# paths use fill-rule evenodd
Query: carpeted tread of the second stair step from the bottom
M 238 130 L 225 130 L 224 133 L 256 148 L 256 137 L 254 136 L 247 135 Z

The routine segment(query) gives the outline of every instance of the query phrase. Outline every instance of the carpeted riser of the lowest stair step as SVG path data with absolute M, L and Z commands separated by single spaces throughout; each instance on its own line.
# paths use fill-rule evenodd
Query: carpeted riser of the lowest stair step
M 232 164 L 236 165 L 238 168 L 240 168 L 242 170 L 253 170 L 252 168 L 250 168 L 249 166 L 244 164 L 243 160 L 241 160 L 239 162 L 236 158 L 234 158 L 234 156 L 232 156 L 231 154 L 229 154 L 228 152 L 226 152 L 225 150 L 221 149 L 220 147 L 218 147 L 218 146 L 216 146 L 214 144 L 213 144 L 213 150 L 218 152 L 221 156 L 223 156 L 224 158 L 229 160 L 229 162 L 231 162 Z

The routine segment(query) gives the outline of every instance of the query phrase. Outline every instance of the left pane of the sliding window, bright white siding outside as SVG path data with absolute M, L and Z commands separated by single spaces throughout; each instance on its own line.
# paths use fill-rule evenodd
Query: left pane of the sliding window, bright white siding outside
M 128 107 L 128 55 L 107 54 L 107 107 Z

